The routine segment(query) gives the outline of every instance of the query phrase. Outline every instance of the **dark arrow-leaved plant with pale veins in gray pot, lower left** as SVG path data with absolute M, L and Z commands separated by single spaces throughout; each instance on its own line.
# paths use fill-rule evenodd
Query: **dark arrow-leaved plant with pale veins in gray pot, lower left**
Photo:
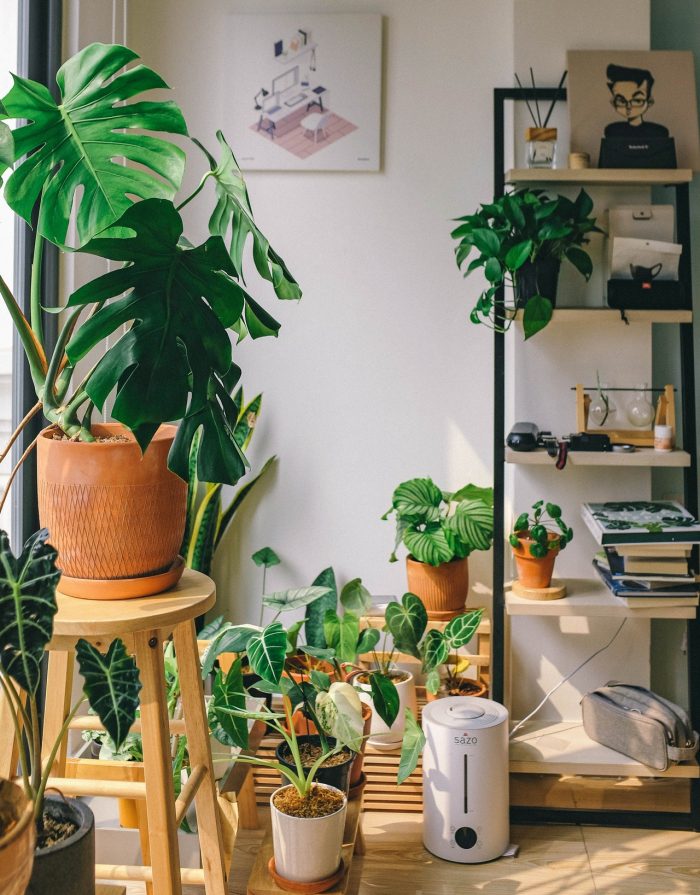
M 70 720 L 87 699 L 104 729 L 121 748 L 136 718 L 141 684 L 133 657 L 121 640 L 106 654 L 85 640 L 76 645 L 83 693 L 55 743 L 42 742 L 38 694 L 44 651 L 53 634 L 56 586 L 61 572 L 45 530 L 33 535 L 20 556 L 0 532 L 0 685 L 10 706 L 20 758 L 21 786 L 32 804 L 36 852 L 29 891 L 94 895 L 94 819 L 78 799 L 46 795 L 46 786 Z M 24 694 L 26 694 L 26 705 Z M 42 760 L 44 756 L 44 760 Z M 26 851 L 25 851 L 26 857 Z M 17 856 L 20 860 L 20 856 Z

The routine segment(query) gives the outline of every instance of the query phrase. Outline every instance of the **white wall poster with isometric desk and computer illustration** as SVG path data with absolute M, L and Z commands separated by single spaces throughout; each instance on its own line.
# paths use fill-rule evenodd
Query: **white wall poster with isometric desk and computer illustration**
M 227 133 L 245 171 L 378 171 L 382 19 L 232 15 Z

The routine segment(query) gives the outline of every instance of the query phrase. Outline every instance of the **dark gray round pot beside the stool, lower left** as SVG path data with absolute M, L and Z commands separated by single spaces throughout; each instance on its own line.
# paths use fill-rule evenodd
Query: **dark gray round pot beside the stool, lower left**
M 38 848 L 26 895 L 95 895 L 95 818 L 77 799 L 49 796 L 46 809 L 78 829 L 63 842 Z

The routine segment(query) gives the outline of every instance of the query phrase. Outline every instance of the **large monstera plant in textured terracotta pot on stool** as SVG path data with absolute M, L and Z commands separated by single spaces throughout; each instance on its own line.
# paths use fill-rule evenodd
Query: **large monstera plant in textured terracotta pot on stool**
M 248 241 L 277 297 L 301 297 L 254 221 L 220 131 L 218 161 L 193 141 L 204 170 L 194 191 L 176 199 L 188 156 L 165 135 L 187 138 L 187 125 L 172 100 L 140 100 L 167 85 L 132 66 L 137 59 L 127 47 L 90 44 L 59 69 L 58 102 L 17 75 L 0 100 L 4 198 L 18 218 L 36 221 L 30 311 L 1 276 L 0 298 L 36 389 L 31 415 L 42 412 L 50 424 L 36 440 L 40 520 L 61 555 L 62 592 L 88 599 L 145 596 L 175 583 L 191 459 L 202 482 L 235 484 L 246 471 L 230 336 L 279 330 L 244 288 Z M 10 131 L 2 119 L 19 123 Z M 214 194 L 207 232 L 187 240 L 181 211 L 205 187 Z M 64 307 L 45 308 L 48 243 L 116 262 L 114 269 L 81 285 Z M 62 311 L 55 346 L 45 338 L 45 310 Z M 93 423 L 106 405 L 116 422 Z

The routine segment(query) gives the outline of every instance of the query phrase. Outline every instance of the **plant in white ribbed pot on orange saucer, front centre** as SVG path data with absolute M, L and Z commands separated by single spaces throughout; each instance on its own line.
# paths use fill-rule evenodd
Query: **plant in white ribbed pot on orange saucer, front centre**
M 362 737 L 359 701 L 353 688 L 334 682 L 327 693 L 317 694 L 315 718 L 329 740 L 327 748 L 309 766 L 300 749 L 299 738 L 292 724 L 296 705 L 304 700 L 307 684 L 297 684 L 285 677 L 284 660 L 286 636 L 278 622 L 268 625 L 257 641 L 248 642 L 249 660 L 261 676 L 258 686 L 281 692 L 284 711 L 274 712 L 262 705 L 259 711 L 246 708 L 246 691 L 241 673 L 241 659 L 237 659 L 227 673 L 219 670 L 220 686 L 227 699 L 214 709 L 216 720 L 230 739 L 241 749 L 248 747 L 248 720 L 264 720 L 282 738 L 291 762 L 270 760 L 244 753 L 237 761 L 276 769 L 286 785 L 270 797 L 274 866 L 271 871 L 291 884 L 318 883 L 335 876 L 341 861 L 347 797 L 344 792 L 327 784 L 318 783 L 317 776 L 324 766 L 333 766 L 343 750 L 356 750 Z M 317 674 L 317 672 L 313 672 Z

